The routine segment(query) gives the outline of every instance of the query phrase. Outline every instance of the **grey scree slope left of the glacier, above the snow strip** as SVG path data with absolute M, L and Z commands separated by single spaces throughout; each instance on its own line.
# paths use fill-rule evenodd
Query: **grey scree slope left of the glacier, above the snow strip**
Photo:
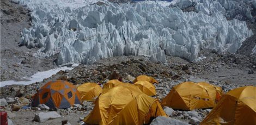
M 1 0 L 1 81 L 54 68 L 54 57 L 38 59 L 33 57 L 38 48 L 19 47 L 21 31 L 29 27 L 29 10 L 9 0 Z

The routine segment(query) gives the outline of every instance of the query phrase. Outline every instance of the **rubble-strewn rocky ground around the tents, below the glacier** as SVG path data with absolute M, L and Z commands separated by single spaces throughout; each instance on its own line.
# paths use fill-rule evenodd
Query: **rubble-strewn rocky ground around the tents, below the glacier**
M 31 96 L 50 80 L 62 79 L 80 85 L 85 82 L 96 82 L 104 84 L 108 79 L 121 78 L 123 82 L 129 82 L 130 77 L 136 77 L 141 74 L 153 76 L 159 80 L 160 84 L 156 85 L 157 95 L 160 101 L 165 97 L 170 89 L 176 84 L 193 81 L 206 81 L 211 84 L 221 86 L 224 92 L 235 89 L 244 85 L 256 85 L 256 55 L 239 55 L 230 53 L 216 53 L 209 49 L 203 49 L 200 52 L 202 58 L 198 62 L 188 62 L 178 57 L 167 57 L 167 63 L 151 62 L 147 57 L 114 57 L 102 59 L 93 65 L 79 65 L 73 70 L 60 71 L 50 78 L 44 79 L 41 83 L 31 85 L 10 85 L 1 87 L 1 98 L 20 97 L 27 98 L 30 102 Z M 15 100 L 15 99 L 14 99 Z M 19 102 L 19 99 L 17 98 Z M 24 105 L 16 103 L 16 106 L 22 108 Z M 86 116 L 92 109 L 91 102 L 84 102 L 80 108 L 70 108 L 57 110 L 60 118 L 47 120 L 45 122 L 35 122 L 34 113 L 36 110 L 20 109 L 11 111 L 12 103 L 9 103 L 7 110 L 15 117 L 11 117 L 15 124 L 60 124 L 63 120 L 68 120 L 71 124 L 79 124 L 77 121 L 80 117 Z M 209 113 L 210 109 L 199 109 L 194 111 L 180 111 L 164 107 L 168 115 L 176 120 L 187 123 L 198 123 Z M 50 111 L 41 111 L 50 112 Z M 171 112 L 171 113 L 170 113 Z

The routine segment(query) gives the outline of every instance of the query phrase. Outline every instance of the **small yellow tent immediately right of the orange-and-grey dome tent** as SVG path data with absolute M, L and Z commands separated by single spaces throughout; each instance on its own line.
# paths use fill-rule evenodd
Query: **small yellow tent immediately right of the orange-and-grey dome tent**
M 77 87 L 82 101 L 94 101 L 100 95 L 102 89 L 96 83 L 84 83 Z

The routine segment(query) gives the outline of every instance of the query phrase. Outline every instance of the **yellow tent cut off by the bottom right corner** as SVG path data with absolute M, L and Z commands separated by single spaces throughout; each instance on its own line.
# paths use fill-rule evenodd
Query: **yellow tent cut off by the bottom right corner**
M 256 124 L 256 87 L 229 91 L 201 124 Z

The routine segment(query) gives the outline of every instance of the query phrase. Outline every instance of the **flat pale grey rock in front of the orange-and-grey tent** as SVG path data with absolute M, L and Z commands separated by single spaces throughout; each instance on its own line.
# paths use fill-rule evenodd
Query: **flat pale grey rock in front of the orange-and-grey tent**
M 49 119 L 59 118 L 60 116 L 56 111 L 50 112 L 39 112 L 35 114 L 34 121 L 36 122 L 45 122 Z

